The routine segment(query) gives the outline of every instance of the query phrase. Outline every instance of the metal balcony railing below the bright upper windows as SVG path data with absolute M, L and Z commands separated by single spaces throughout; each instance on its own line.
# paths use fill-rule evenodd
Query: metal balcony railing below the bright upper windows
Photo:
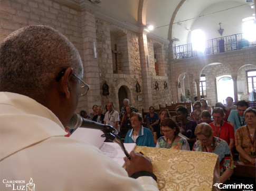
M 173 57 L 174 59 L 182 59 L 208 54 L 235 51 L 243 48 L 256 47 L 256 42 L 249 42 L 247 39 L 243 38 L 243 33 L 240 33 L 207 40 L 205 41 L 205 47 L 205 51 L 200 52 L 193 50 L 192 44 L 174 46 Z

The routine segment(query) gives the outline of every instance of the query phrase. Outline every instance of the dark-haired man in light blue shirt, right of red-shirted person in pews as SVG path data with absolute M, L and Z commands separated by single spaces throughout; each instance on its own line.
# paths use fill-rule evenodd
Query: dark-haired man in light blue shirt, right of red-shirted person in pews
M 229 118 L 227 118 L 227 122 L 231 124 L 234 128 L 234 132 L 239 127 L 246 125 L 246 122 L 243 117 L 243 113 L 245 109 L 248 108 L 248 103 L 245 102 L 245 100 L 241 100 L 238 102 L 238 104 L 236 104 L 236 106 L 238 106 L 236 108 L 237 110 L 232 110 L 230 112 Z

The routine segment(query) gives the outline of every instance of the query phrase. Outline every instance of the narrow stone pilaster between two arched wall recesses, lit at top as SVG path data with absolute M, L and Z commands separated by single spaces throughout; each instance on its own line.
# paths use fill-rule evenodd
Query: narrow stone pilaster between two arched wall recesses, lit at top
M 147 44 L 147 31 L 144 26 L 140 27 L 139 30 L 139 53 L 140 53 L 140 65 L 141 65 L 141 77 L 143 87 L 143 100 L 144 108 L 149 108 L 152 102 L 152 90 L 151 90 L 151 76 L 149 74 L 147 56 L 148 44 Z

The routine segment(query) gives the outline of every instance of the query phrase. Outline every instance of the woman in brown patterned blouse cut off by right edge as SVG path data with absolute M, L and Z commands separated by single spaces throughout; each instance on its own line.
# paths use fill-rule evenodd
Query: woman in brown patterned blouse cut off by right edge
M 247 125 L 238 128 L 235 132 L 235 147 L 239 152 L 241 162 L 255 164 L 256 148 L 256 110 L 249 107 L 244 112 Z

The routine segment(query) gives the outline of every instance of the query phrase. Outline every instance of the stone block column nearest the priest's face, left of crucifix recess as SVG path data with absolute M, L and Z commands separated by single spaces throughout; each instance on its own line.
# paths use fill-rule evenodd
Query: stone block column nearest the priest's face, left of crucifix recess
M 82 11 L 81 23 L 83 35 L 82 56 L 84 61 L 84 81 L 90 85 L 90 89 L 86 97 L 80 98 L 79 105 L 84 105 L 88 109 L 88 114 L 90 114 L 93 105 L 101 105 L 98 59 L 94 58 L 93 54 L 93 43 L 95 43 L 97 47 L 95 15 L 87 10 Z

